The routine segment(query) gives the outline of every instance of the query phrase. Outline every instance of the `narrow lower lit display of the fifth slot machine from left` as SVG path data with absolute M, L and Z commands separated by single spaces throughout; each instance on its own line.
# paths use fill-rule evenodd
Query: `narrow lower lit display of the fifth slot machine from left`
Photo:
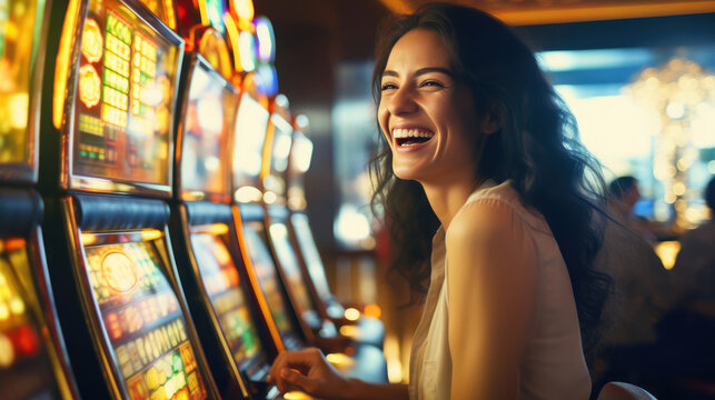
M 300 272 L 298 258 L 290 244 L 290 239 L 288 239 L 288 228 L 285 223 L 271 223 L 268 232 L 270 233 L 271 243 L 274 243 L 274 248 L 276 249 L 276 257 L 280 261 L 291 292 L 295 293 L 298 303 L 300 303 L 300 309 L 304 312 L 315 311 L 315 306 L 308 293 L 306 282 L 302 279 L 302 273 Z

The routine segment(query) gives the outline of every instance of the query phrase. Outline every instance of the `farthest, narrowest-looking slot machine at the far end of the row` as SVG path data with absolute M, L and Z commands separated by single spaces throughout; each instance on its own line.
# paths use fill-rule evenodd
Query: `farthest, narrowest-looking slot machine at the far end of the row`
M 305 173 L 310 168 L 312 142 L 308 138 L 309 121 L 306 116 L 296 116 L 292 120 L 292 146 L 288 168 L 286 169 L 287 221 L 290 241 L 299 260 L 306 286 L 316 304 L 317 312 L 326 320 L 340 328 L 340 333 L 356 341 L 383 347 L 385 327 L 377 318 L 360 316 L 356 321 L 345 318 L 345 307 L 330 291 L 322 259 L 318 252 L 310 221 L 307 214 L 308 203 L 305 194 Z

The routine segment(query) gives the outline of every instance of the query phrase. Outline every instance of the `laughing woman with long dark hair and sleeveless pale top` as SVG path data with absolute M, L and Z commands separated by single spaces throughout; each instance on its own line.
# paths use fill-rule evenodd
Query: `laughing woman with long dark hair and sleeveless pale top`
M 342 378 L 318 350 L 280 354 L 272 381 L 340 399 L 587 399 L 583 348 L 609 281 L 593 268 L 603 180 L 586 183 L 599 174 L 570 114 L 486 13 L 429 4 L 386 27 L 375 201 L 396 268 L 415 288 L 430 276 L 410 384 Z

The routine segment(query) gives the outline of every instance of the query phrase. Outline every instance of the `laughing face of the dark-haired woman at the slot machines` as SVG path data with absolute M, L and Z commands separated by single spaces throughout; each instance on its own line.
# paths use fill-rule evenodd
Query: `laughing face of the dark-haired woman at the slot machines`
M 423 184 L 476 180 L 480 122 L 468 88 L 457 82 L 450 64 L 441 37 L 429 30 L 407 32 L 389 54 L 378 120 L 401 179 Z

